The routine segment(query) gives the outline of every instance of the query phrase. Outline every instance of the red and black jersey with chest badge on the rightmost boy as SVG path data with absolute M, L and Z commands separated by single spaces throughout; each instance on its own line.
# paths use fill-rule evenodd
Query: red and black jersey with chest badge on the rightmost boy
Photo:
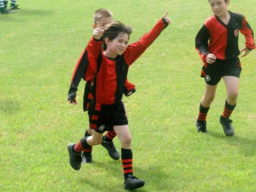
M 199 52 L 204 63 L 208 54 L 214 54 L 221 60 L 240 55 L 238 48 L 239 31 L 246 39 L 245 47 L 249 50 L 255 49 L 253 30 L 246 18 L 239 13 L 228 12 L 230 13 L 230 21 L 227 25 L 218 16 L 213 15 L 204 22 L 195 38 L 195 49 Z

